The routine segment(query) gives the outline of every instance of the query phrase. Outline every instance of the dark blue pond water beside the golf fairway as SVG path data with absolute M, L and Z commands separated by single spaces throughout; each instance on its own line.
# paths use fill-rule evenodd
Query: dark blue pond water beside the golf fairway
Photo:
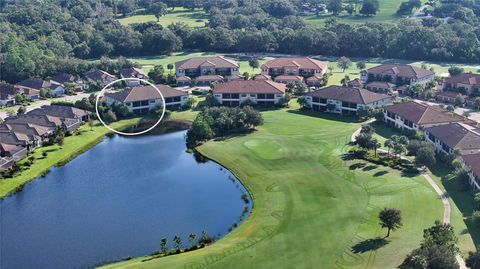
M 106 138 L 4 199 L 0 268 L 91 268 L 152 253 L 163 237 L 228 233 L 251 209 L 246 190 L 186 153 L 184 135 Z

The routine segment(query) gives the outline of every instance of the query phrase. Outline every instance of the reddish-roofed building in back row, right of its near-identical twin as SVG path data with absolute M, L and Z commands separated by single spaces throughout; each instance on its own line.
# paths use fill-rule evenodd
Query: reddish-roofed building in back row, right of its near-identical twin
M 271 76 L 276 82 L 303 81 L 311 87 L 323 85 L 327 62 L 309 57 L 276 58 L 262 65 L 262 74 Z

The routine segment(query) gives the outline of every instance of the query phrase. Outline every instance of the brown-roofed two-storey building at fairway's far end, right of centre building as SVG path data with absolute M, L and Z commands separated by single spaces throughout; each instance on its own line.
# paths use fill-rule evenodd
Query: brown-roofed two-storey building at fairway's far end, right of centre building
M 365 89 L 330 86 L 310 92 L 305 96 L 307 107 L 322 112 L 356 115 L 359 109 L 382 107 L 392 102 L 392 97 Z

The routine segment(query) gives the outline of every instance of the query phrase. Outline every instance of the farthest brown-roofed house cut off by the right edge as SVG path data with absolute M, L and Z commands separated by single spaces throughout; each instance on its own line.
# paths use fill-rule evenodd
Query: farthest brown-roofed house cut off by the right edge
M 463 73 L 445 78 L 442 83 L 444 91 L 463 91 L 468 95 L 480 96 L 480 74 Z

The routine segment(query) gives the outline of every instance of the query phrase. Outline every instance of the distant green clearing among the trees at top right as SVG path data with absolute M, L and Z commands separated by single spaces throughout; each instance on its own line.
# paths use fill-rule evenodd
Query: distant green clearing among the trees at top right
M 396 14 L 398 7 L 402 1 L 398 0 L 379 0 L 380 10 L 375 16 L 361 16 L 353 15 L 349 16 L 345 11 L 342 12 L 337 19 L 342 23 L 365 23 L 365 22 L 396 22 L 401 19 L 400 16 Z M 422 0 L 422 2 L 426 2 Z M 360 10 L 361 5 L 358 5 L 358 11 Z M 332 13 L 321 14 L 321 15 L 308 15 L 304 16 L 304 20 L 307 23 L 314 25 L 324 25 L 325 20 L 328 18 L 334 18 Z

